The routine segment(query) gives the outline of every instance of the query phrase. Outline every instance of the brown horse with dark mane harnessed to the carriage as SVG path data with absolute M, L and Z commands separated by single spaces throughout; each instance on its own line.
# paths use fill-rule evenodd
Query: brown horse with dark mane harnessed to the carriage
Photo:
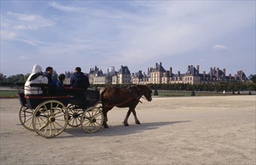
M 113 107 L 129 107 L 129 110 L 124 118 L 123 124 L 129 126 L 128 118 L 130 113 L 133 112 L 136 124 L 140 124 L 139 119 L 136 116 L 135 108 L 139 104 L 139 99 L 143 98 L 152 101 L 151 98 L 152 90 L 146 85 L 133 85 L 130 87 L 108 87 L 102 88 L 99 92 L 100 101 L 102 102 L 102 113 L 104 115 L 103 126 L 108 127 L 107 113 Z

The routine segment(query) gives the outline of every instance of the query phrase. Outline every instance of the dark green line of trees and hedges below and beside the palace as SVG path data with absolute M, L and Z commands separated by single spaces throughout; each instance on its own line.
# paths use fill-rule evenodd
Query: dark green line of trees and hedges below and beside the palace
M 16 74 L 10 77 L 6 77 L 0 73 L 0 86 L 24 86 L 29 74 Z M 219 84 L 148 84 L 151 89 L 157 90 L 171 90 L 171 91 L 206 91 L 206 92 L 233 92 L 233 91 L 256 91 L 256 74 L 248 77 L 248 83 L 230 82 L 230 83 L 219 83 Z M 98 85 L 92 84 L 91 87 L 103 87 L 109 85 Z M 115 86 L 126 86 L 126 85 L 115 85 Z

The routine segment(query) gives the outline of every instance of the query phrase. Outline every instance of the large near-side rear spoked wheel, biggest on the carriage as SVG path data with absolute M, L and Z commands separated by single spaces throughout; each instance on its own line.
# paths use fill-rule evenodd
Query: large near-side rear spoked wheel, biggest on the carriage
M 59 101 L 44 101 L 36 107 L 32 124 L 38 135 L 55 137 L 65 130 L 68 124 L 68 110 Z

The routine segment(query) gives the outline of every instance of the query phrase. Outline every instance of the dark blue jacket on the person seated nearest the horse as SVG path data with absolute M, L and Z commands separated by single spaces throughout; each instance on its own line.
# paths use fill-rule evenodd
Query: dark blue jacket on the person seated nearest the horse
M 75 72 L 70 78 L 70 85 L 75 88 L 87 89 L 90 86 L 89 79 L 82 72 Z

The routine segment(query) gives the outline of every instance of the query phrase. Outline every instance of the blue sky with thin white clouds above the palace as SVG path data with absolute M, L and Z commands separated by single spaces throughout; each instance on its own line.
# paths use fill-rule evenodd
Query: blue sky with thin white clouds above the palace
M 1 0 L 1 71 L 187 66 L 256 74 L 255 1 Z

